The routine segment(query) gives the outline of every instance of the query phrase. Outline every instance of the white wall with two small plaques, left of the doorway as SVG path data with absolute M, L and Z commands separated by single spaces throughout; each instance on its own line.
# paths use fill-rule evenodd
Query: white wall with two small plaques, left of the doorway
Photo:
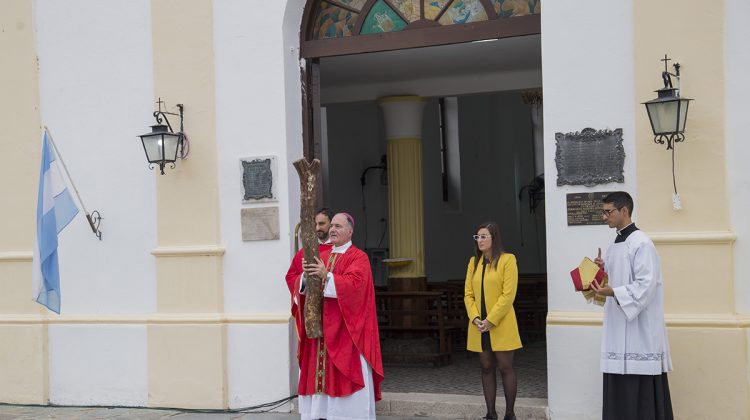
M 229 313 L 283 318 L 290 316 L 284 282 L 295 219 L 290 212 L 299 208 L 293 198 L 298 193 L 290 191 L 298 180 L 296 174 L 290 179 L 290 169 L 292 158 L 301 155 L 290 152 L 287 143 L 301 146 L 302 141 L 287 137 L 286 102 L 294 87 L 279 69 L 288 64 L 285 55 L 297 53 L 285 46 L 284 2 L 267 4 L 262 19 L 256 9 L 244 0 L 217 0 L 213 8 L 221 237 L 226 246 L 224 305 Z M 243 205 L 239 158 L 268 155 L 277 158 L 278 202 Z M 243 242 L 240 210 L 266 206 L 279 208 L 280 239 Z M 290 395 L 288 331 L 286 323 L 228 328 L 231 407 Z

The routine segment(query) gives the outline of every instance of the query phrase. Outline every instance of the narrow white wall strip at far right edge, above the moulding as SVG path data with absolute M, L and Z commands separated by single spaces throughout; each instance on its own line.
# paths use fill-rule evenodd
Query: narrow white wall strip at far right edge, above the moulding
M 750 157 L 750 143 L 747 141 L 747 98 L 750 98 L 750 3 L 741 0 L 727 0 L 724 68 L 726 69 L 726 139 L 727 177 L 730 217 L 732 230 L 737 235 L 734 243 L 734 284 L 737 312 L 750 314 L 750 171 L 747 159 Z M 750 375 L 748 375 L 750 377 Z

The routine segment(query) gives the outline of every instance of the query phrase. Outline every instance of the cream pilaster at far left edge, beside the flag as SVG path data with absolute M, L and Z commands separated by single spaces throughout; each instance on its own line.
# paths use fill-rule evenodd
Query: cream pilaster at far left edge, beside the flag
M 0 399 L 48 402 L 46 310 L 31 300 L 41 127 L 34 3 L 8 0 L 0 13 Z M 46 315 L 45 315 L 46 316 Z

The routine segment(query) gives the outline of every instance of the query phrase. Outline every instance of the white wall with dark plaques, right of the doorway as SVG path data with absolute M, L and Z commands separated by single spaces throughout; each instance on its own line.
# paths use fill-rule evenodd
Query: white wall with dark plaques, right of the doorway
M 568 273 L 584 256 L 595 256 L 612 242 L 614 232 L 606 226 L 567 227 L 565 194 L 570 192 L 626 190 L 635 200 L 635 108 L 633 69 L 633 12 L 631 2 L 608 3 L 584 0 L 574 7 L 566 2 L 547 2 L 542 14 L 542 62 L 544 78 L 544 154 L 547 211 L 547 268 L 550 311 L 601 311 L 588 305 L 570 286 Z M 607 34 L 607 36 L 593 36 Z M 640 93 L 639 93 L 640 94 Z M 645 94 L 645 93 L 643 93 Z M 623 129 L 625 146 L 625 183 L 582 186 L 556 186 L 555 133 L 583 128 Z M 640 139 L 643 140 L 643 139 Z M 562 336 L 576 340 L 576 355 L 595 355 L 599 342 L 584 339 L 580 328 L 560 327 Z M 597 328 L 593 328 L 596 329 Z M 599 363 L 585 358 L 578 374 L 569 375 L 566 363 L 580 360 L 559 351 L 555 329 L 548 329 L 550 412 L 555 419 L 599 418 L 601 412 L 601 375 L 580 372 L 599 370 Z M 589 334 L 589 333 L 586 333 Z M 595 333 L 599 335 L 598 333 Z M 581 390 L 592 389 L 592 394 Z M 593 404 L 593 406 L 592 406 Z M 586 417 L 573 415 L 569 407 L 591 407 Z

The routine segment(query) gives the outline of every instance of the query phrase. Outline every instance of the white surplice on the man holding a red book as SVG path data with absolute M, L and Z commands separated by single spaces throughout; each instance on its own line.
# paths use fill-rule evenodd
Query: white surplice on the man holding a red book
M 604 255 L 604 270 L 615 297 L 608 297 L 604 305 L 601 369 L 604 373 L 661 375 L 672 370 L 672 359 L 659 254 L 645 233 L 632 231 L 635 226 L 628 228 L 618 232 L 626 234 L 626 239 L 612 244 Z

